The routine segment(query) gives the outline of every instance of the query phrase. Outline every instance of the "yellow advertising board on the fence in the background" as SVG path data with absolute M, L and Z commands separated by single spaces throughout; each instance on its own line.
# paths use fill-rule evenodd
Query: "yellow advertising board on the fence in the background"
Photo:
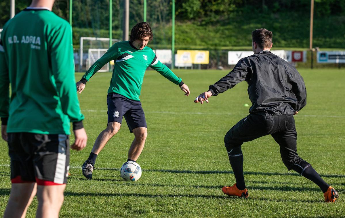
M 178 63 L 209 63 L 209 51 L 201 50 L 177 50 Z

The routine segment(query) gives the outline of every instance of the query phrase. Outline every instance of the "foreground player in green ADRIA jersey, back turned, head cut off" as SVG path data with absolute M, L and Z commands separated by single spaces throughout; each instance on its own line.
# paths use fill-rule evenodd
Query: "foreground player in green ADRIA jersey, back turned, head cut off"
M 37 217 L 58 217 L 72 149 L 86 146 L 76 94 L 71 27 L 51 12 L 54 0 L 33 0 L 9 20 L 0 40 L 0 117 L 11 160 L 4 217 L 25 217 L 37 194 Z M 11 98 L 9 85 L 11 83 Z

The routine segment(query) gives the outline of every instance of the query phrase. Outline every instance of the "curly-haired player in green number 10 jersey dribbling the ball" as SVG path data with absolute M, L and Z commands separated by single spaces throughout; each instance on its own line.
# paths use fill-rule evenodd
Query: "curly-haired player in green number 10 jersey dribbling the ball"
M 136 161 L 144 148 L 147 137 L 147 126 L 144 111 L 139 99 L 142 80 L 147 67 L 158 71 L 162 76 L 179 85 L 189 96 L 189 88 L 167 66 L 163 65 L 147 43 L 153 38 L 151 27 L 146 22 L 138 23 L 130 32 L 130 40 L 117 42 L 85 73 L 77 82 L 79 94 L 89 79 L 107 64 L 114 60 L 110 87 L 108 89 L 108 125 L 97 137 L 89 158 L 82 165 L 83 175 L 92 179 L 96 157 L 120 129 L 122 117 L 125 117 L 129 131 L 134 133 L 134 140 L 128 151 L 127 161 Z

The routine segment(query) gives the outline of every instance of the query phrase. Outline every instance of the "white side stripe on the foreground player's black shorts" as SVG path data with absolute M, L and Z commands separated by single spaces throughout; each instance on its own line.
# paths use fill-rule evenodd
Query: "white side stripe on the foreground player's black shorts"
M 66 135 L 59 135 L 59 148 L 58 148 L 58 158 L 56 161 L 56 169 L 54 176 L 54 183 L 63 184 L 65 179 L 65 170 L 66 170 Z

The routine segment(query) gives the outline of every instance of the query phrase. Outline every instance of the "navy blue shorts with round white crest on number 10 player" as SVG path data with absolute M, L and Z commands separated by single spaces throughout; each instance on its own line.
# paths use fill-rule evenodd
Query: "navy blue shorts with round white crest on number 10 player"
M 147 128 L 140 101 L 133 101 L 116 93 L 108 93 L 107 104 L 108 123 L 122 123 L 122 117 L 125 117 L 130 132 L 137 127 Z

